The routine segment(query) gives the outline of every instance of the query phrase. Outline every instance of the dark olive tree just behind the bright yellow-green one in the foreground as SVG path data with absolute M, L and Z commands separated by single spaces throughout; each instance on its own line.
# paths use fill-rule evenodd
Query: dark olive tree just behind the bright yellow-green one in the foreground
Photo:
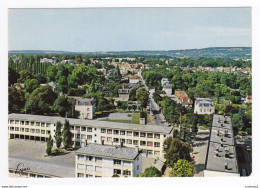
M 169 145 L 169 140 L 164 142 L 165 159 L 168 167 L 173 167 L 179 159 L 186 159 L 191 161 L 190 152 L 191 147 L 187 142 L 182 142 L 178 138 L 173 138 Z

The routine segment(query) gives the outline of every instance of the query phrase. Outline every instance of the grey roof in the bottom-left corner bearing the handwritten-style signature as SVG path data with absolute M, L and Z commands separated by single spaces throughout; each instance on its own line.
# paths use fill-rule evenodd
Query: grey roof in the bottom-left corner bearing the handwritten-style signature
M 20 164 L 20 165 L 19 165 Z M 58 165 L 47 161 L 36 159 L 25 159 L 19 157 L 8 157 L 8 168 L 12 170 L 29 168 L 23 172 L 30 172 L 46 176 L 61 178 L 75 177 L 75 168 Z

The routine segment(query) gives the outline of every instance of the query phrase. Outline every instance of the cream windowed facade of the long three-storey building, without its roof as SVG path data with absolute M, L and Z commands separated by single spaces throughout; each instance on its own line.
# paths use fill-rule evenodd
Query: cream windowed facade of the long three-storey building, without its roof
M 9 120 L 8 122 L 9 139 L 39 139 L 39 141 L 46 142 L 49 135 L 51 135 L 54 139 L 56 126 L 53 123 L 35 121 L 34 125 L 32 125 L 31 122 L 28 121 L 28 125 L 22 125 L 22 121 L 15 121 Z M 39 124 L 39 126 L 36 125 L 36 122 Z M 123 145 L 126 147 L 139 146 L 140 149 L 147 151 L 148 155 L 151 157 L 163 156 L 163 141 L 168 136 L 172 136 L 153 132 L 95 128 L 88 125 L 71 125 L 70 128 L 73 137 L 73 145 L 85 146 L 86 143 L 101 144 L 102 140 L 104 140 L 104 143 L 108 145 L 120 145 L 120 143 L 123 142 Z M 28 132 L 26 132 L 25 129 L 27 129 Z M 39 131 L 39 133 L 36 133 L 36 129 Z M 123 131 L 125 131 L 125 134 L 123 134 Z

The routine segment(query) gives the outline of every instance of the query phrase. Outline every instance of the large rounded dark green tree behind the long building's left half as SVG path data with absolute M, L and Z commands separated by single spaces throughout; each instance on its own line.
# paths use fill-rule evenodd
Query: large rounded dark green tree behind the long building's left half
M 52 91 L 51 86 L 45 85 L 35 89 L 26 101 L 26 110 L 31 114 L 50 114 L 51 106 L 57 98 L 57 94 Z

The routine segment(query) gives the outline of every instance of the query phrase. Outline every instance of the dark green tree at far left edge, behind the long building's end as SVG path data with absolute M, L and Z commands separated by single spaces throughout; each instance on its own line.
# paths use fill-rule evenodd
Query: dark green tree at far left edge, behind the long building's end
M 24 108 L 25 96 L 24 92 L 16 89 L 14 86 L 8 88 L 8 112 L 19 113 Z

